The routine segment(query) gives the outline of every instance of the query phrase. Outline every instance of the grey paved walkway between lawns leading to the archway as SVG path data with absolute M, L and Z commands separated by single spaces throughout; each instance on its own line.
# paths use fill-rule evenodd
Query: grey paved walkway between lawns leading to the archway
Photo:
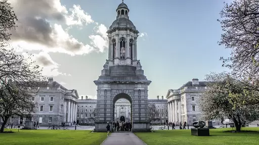
M 113 132 L 107 137 L 102 145 L 146 145 L 138 136 L 132 132 Z

